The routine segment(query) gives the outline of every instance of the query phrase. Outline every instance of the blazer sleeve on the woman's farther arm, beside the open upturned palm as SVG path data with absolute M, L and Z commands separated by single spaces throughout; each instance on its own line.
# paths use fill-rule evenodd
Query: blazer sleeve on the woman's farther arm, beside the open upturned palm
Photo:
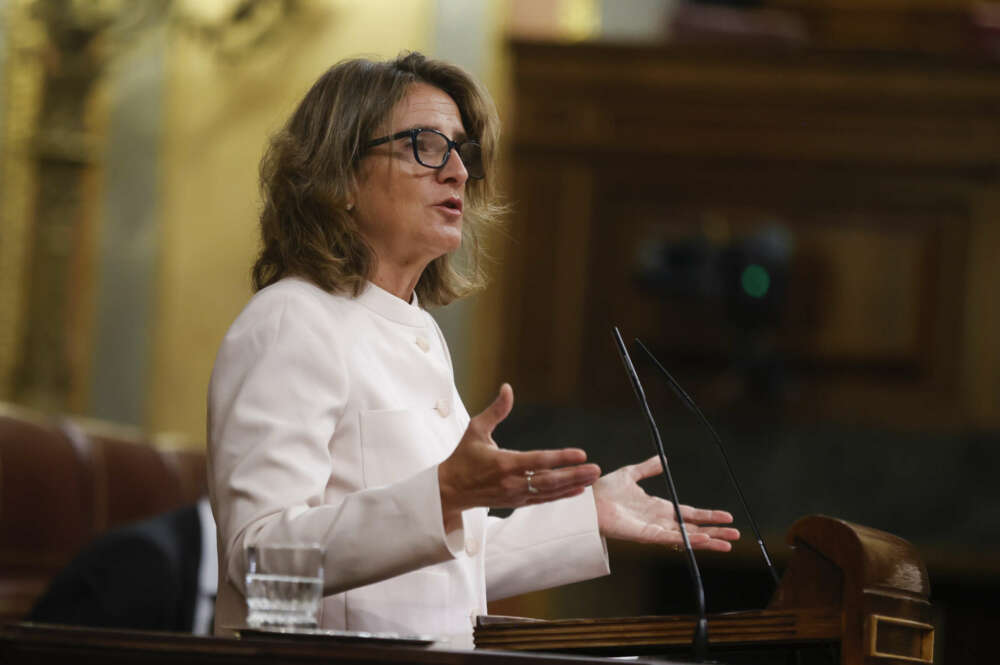
M 486 537 L 486 597 L 548 589 L 607 575 L 608 550 L 597 526 L 594 494 L 490 518 Z

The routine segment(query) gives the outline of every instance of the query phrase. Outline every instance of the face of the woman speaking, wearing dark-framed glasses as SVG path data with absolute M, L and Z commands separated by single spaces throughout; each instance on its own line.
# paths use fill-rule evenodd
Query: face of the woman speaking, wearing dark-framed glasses
M 369 140 L 417 127 L 459 141 L 465 128 L 454 100 L 439 88 L 413 84 L 387 123 Z M 378 257 L 380 273 L 419 278 L 434 259 L 462 243 L 462 206 L 469 174 L 452 150 L 440 169 L 414 159 L 410 138 L 370 148 L 361 160 L 353 214 Z

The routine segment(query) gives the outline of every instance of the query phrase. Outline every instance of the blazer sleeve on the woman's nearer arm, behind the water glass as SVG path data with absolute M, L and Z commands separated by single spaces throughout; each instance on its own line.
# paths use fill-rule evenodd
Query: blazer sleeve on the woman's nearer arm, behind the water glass
M 260 295 L 260 294 L 258 294 Z M 244 547 L 326 546 L 324 593 L 449 560 L 461 529 L 444 533 L 437 468 L 331 501 L 327 484 L 350 377 L 322 304 L 305 295 L 257 298 L 223 341 L 209 388 L 209 485 L 220 576 L 241 592 Z M 343 339 L 343 337 L 341 338 Z M 393 547 L 385 547 L 391 534 Z

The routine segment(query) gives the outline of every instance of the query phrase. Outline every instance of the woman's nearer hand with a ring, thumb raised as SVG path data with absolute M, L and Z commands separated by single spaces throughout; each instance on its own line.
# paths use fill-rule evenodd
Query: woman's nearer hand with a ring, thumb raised
M 576 496 L 601 477 L 600 467 L 585 464 L 587 453 L 579 448 L 500 448 L 493 430 L 513 406 L 514 391 L 505 383 L 493 403 L 469 422 L 451 456 L 438 465 L 445 531 L 460 527 L 462 511 L 468 508 L 517 508 Z M 530 481 L 525 472 L 533 472 Z

